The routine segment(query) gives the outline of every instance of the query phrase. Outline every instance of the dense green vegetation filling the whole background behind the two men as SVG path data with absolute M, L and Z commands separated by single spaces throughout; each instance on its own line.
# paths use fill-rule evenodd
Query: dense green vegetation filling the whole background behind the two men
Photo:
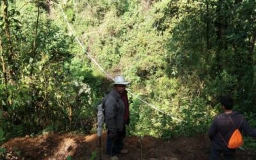
M 256 127 L 255 3 L 1 0 L 0 141 L 95 129 L 95 104 L 111 79 L 86 52 L 164 111 L 129 95 L 129 134 L 205 133 L 226 93 Z

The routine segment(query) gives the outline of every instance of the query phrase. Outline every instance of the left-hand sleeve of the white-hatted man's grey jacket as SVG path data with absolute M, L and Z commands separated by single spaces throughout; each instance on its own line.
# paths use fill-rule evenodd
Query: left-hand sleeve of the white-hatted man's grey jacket
M 109 96 L 105 102 L 105 123 L 111 133 L 117 132 L 116 125 L 116 100 Z

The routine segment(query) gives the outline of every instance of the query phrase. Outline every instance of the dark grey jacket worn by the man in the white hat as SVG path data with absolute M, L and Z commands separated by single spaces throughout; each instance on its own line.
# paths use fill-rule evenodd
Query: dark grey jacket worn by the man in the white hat
M 111 133 L 123 131 L 124 127 L 124 102 L 116 90 L 112 90 L 105 102 L 105 123 Z

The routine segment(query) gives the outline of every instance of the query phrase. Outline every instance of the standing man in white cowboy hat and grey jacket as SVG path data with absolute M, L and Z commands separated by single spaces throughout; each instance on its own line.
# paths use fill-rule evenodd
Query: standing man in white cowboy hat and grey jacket
M 123 140 L 125 124 L 129 125 L 129 101 L 125 87 L 129 82 L 124 76 L 116 76 L 113 90 L 105 102 L 105 122 L 108 128 L 107 153 L 111 159 L 118 159 L 116 154 L 127 154 Z

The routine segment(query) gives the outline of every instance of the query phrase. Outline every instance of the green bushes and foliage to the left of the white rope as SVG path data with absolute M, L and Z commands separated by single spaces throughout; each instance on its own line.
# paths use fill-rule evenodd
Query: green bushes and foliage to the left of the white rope
M 35 39 L 36 5 L 24 1 L 9 3 L 9 8 L 13 7 L 22 9 L 9 10 L 12 44 L 0 30 L 1 56 L 7 69 L 7 83 L 3 77 L 0 84 L 0 109 L 4 113 L 1 136 L 8 139 L 48 131 L 90 131 L 92 101 L 99 97 L 97 87 L 101 83 L 92 75 L 89 61 L 77 49 L 74 37 L 50 20 L 44 8 L 40 6 Z M 34 39 L 36 49 L 32 52 Z M 7 56 L 9 45 L 15 51 L 12 61 Z M 2 69 L 1 75 L 4 76 Z

